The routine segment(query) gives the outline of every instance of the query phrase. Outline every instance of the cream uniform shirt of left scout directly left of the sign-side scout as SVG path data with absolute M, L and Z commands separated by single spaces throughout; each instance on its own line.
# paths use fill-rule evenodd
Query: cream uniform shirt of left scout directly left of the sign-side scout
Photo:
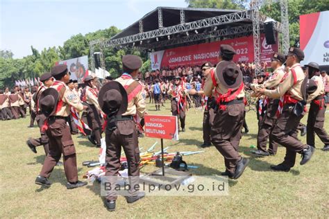
M 80 98 L 76 96 L 70 89 L 65 85 L 62 81 L 56 81 L 51 87 L 57 88 L 63 85 L 62 89 L 60 89 L 60 96 L 62 95 L 62 107 L 54 114 L 54 116 L 64 116 L 67 117 L 70 115 L 69 107 L 74 107 L 78 111 L 83 110 L 83 104 L 80 101 Z

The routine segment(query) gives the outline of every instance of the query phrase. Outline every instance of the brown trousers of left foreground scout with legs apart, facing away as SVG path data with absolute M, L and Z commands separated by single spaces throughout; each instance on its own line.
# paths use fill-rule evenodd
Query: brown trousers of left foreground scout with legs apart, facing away
M 63 154 L 67 182 L 77 182 L 76 148 L 67 125 L 67 117 L 51 116 L 47 136 L 49 137 L 49 153 L 44 159 L 40 175 L 48 178 Z

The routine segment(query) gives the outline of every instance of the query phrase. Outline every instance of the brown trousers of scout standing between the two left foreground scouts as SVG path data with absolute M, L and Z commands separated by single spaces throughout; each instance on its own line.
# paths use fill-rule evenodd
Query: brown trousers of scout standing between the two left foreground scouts
M 87 103 L 84 103 L 87 104 Z M 87 104 L 88 108 L 87 111 L 83 112 L 82 119 L 88 126 L 92 129 L 86 130 L 86 134 L 91 134 L 92 139 L 95 139 L 97 145 L 101 145 L 101 127 L 102 121 L 99 117 L 99 112 L 96 107 L 92 104 Z

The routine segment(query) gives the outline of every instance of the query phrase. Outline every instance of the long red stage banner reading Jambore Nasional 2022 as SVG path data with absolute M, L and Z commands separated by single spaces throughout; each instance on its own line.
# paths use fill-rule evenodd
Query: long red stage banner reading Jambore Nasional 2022
M 264 34 L 260 35 L 260 43 L 260 60 L 262 62 L 271 62 L 271 56 L 278 51 L 278 44 L 267 45 Z M 253 36 L 249 36 L 155 51 L 150 53 L 152 70 L 162 67 L 201 65 L 203 62 L 216 64 L 221 44 L 233 46 L 237 52 L 233 61 L 253 62 Z

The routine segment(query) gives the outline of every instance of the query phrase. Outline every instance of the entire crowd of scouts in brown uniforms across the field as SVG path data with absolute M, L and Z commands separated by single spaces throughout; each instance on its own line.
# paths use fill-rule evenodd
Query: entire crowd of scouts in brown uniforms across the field
M 124 55 L 123 73 L 103 83 L 94 76 L 84 78 L 83 85 L 70 79 L 65 64 L 58 64 L 50 73 L 40 76 L 40 86 L 12 91 L 0 91 L 1 119 L 18 119 L 26 116 L 26 108 L 40 128 L 40 137 L 26 141 L 28 148 L 37 152 L 43 146 L 46 158 L 35 179 L 36 184 L 51 186 L 49 177 L 56 165 L 63 165 L 67 177 L 67 189 L 85 186 L 78 180 L 76 149 L 71 134 L 84 134 L 96 147 L 101 146 L 102 135 L 106 139 L 106 176 L 117 176 L 120 168 L 121 147 L 128 161 L 128 175 L 140 175 L 140 151 L 138 137 L 142 137 L 146 98 L 161 110 L 166 100 L 170 101 L 171 114 L 178 116 L 178 128 L 185 132 L 186 110 L 203 107 L 203 144 L 215 146 L 224 157 L 226 170 L 222 175 L 238 179 L 244 173 L 249 160 L 239 155 L 239 141 L 245 123 L 245 90 L 250 89 L 257 98 L 258 138 L 257 156 L 276 155 L 278 145 L 286 148 L 281 164 L 270 168 L 288 172 L 296 161 L 296 153 L 302 155 L 304 165 L 314 153 L 314 134 L 329 150 L 329 137 L 323 128 L 326 112 L 325 87 L 328 76 L 319 65 L 310 62 L 303 71 L 303 51 L 290 48 L 287 55 L 273 53 L 271 69 L 254 76 L 253 64 L 233 62 L 235 50 L 221 45 L 219 62 L 205 62 L 197 67 L 178 67 L 162 71 L 146 72 L 141 77 L 142 60 L 136 55 Z M 251 77 L 246 81 L 245 77 Z M 301 128 L 306 104 L 310 103 L 307 118 L 307 143 L 296 135 Z M 192 116 L 189 115 L 189 116 Z M 269 149 L 267 140 L 269 139 Z M 115 184 L 115 179 L 110 179 Z M 138 181 L 130 180 L 128 203 L 144 197 L 137 187 Z M 106 207 L 115 210 L 117 193 L 110 190 Z

